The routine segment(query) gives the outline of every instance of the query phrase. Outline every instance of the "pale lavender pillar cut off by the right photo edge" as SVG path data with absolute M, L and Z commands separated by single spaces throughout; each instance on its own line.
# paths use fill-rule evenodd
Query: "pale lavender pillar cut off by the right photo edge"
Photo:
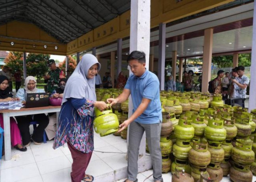
M 249 96 L 249 112 L 256 108 L 256 3 L 253 5 L 253 27 L 252 27 L 252 61 L 251 61 L 251 80 Z

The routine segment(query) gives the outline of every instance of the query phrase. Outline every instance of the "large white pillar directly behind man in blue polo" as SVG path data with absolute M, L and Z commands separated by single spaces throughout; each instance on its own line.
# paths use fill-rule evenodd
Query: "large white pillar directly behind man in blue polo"
M 146 68 L 149 68 L 150 50 L 150 1 L 131 0 L 130 53 L 143 51 L 146 54 Z M 130 70 L 129 75 L 132 75 Z M 132 115 L 132 99 L 129 97 L 129 113 Z M 129 130 L 128 130 L 129 131 Z M 129 132 L 127 141 L 129 140 Z M 127 142 L 128 145 L 128 142 Z M 138 172 L 145 171 L 146 135 L 144 133 L 139 149 Z

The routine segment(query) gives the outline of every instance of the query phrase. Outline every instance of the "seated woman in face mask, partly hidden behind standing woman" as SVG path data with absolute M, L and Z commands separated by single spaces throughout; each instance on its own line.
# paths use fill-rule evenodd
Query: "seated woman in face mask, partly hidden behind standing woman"
M 50 99 L 60 98 L 62 100 L 66 83 L 67 83 L 66 78 L 60 79 L 60 83 L 59 83 L 60 88 L 56 88 L 52 92 L 52 94 L 50 95 Z M 49 116 L 50 116 L 49 117 L 49 124 L 45 128 L 45 132 L 46 132 L 46 135 L 47 135 L 48 139 L 52 140 L 55 137 L 55 134 L 56 134 L 56 131 L 57 131 L 57 115 L 56 115 L 56 113 L 49 113 Z

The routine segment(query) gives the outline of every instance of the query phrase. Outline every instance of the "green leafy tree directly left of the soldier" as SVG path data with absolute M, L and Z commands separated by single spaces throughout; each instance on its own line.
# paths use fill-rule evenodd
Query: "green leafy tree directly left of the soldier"
M 27 75 L 42 78 L 49 71 L 48 60 L 49 54 L 28 54 L 26 59 Z

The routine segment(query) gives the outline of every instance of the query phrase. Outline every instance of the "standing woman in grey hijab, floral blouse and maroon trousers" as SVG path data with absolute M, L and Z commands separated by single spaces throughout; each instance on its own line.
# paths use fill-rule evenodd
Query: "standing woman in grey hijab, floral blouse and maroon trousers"
M 59 127 L 54 138 L 53 149 L 67 142 L 73 159 L 71 181 L 93 181 L 85 174 L 94 150 L 94 107 L 107 108 L 105 102 L 96 101 L 95 75 L 101 68 L 97 58 L 83 55 L 74 73 L 65 86 L 61 104 Z

